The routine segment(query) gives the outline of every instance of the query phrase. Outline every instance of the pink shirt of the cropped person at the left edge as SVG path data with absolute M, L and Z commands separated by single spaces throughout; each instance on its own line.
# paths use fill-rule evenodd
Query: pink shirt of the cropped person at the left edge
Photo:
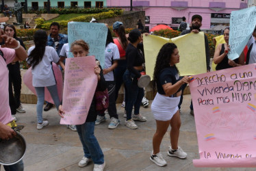
M 8 124 L 13 120 L 11 109 L 9 105 L 9 91 L 8 91 L 8 75 L 9 71 L 7 68 L 7 64 L 12 62 L 16 57 L 15 50 L 9 48 L 0 48 L 3 51 L 3 57 L 0 56 L 0 122 L 3 124 Z

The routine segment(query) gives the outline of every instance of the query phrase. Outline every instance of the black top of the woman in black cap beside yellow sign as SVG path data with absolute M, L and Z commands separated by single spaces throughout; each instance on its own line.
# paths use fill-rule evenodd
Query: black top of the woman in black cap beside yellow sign
M 127 60 L 127 69 L 139 78 L 141 74 L 138 72 L 138 70 L 134 69 L 133 66 L 142 66 L 144 63 L 142 51 L 136 47 L 133 47 L 133 45 L 129 43 L 125 56 Z

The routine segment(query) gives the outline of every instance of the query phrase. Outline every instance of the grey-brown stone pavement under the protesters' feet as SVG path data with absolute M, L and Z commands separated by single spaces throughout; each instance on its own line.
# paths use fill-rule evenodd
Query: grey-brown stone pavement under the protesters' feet
M 152 101 L 150 101 L 152 103 Z M 166 133 L 162 141 L 161 152 L 168 165 L 159 167 L 149 160 L 152 151 L 152 137 L 155 133 L 155 120 L 150 107 L 141 107 L 146 122 L 136 122 L 138 129 L 124 126 L 124 108 L 117 104 L 120 125 L 116 129 L 107 129 L 107 121 L 95 126 L 95 135 L 105 155 L 105 170 L 255 170 L 255 168 L 194 168 L 192 159 L 199 159 L 194 117 L 190 115 L 190 94 L 185 95 L 181 107 L 181 129 L 179 146 L 188 153 L 187 159 L 168 157 L 170 136 Z M 49 126 L 36 129 L 36 105 L 23 104 L 25 114 L 16 114 L 18 124 L 25 125 L 21 133 L 27 141 L 27 153 L 23 159 L 26 171 L 51 170 L 92 170 L 93 163 L 79 168 L 77 163 L 83 157 L 83 150 L 77 132 L 60 125 L 60 117 L 55 109 L 44 111 L 43 117 L 49 120 Z M 2 166 L 3 167 L 3 166 Z M 3 170 L 3 168 L 2 168 Z

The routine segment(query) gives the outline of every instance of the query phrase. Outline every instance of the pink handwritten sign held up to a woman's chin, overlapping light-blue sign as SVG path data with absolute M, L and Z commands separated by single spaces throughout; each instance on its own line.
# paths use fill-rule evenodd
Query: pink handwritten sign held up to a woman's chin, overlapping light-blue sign
M 94 56 L 66 59 L 63 110 L 60 124 L 84 124 L 97 87 Z

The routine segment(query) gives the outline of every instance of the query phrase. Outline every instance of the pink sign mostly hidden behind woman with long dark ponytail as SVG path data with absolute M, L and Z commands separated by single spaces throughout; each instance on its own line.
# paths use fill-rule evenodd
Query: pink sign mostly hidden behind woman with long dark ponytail
M 62 72 L 60 71 L 59 66 L 57 64 L 53 63 L 53 73 L 55 76 L 55 80 L 57 81 L 57 94 L 59 95 L 60 101 L 62 101 L 62 92 L 63 92 L 63 79 L 62 79 Z M 27 70 L 25 75 L 23 75 L 23 82 L 33 92 L 36 94 L 36 89 L 32 85 L 32 70 L 31 67 Z M 44 88 L 44 100 L 48 101 L 49 103 L 53 103 L 53 98 L 51 98 L 50 92 L 47 90 L 47 88 Z

